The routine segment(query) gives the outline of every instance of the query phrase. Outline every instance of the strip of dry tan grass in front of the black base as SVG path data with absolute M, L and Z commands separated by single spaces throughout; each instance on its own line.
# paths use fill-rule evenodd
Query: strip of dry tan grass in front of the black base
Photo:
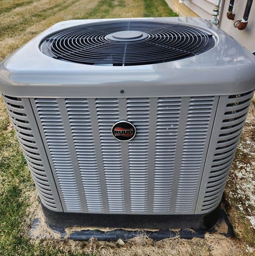
M 206 235 L 205 239 L 164 239 L 153 241 L 146 237 L 135 237 L 120 246 L 116 242 L 102 242 L 90 239 L 88 242 L 72 240 L 45 240 L 44 246 L 54 247 L 58 243 L 63 252 L 94 254 L 100 256 L 241 256 L 244 247 L 240 247 L 233 239 L 222 235 Z

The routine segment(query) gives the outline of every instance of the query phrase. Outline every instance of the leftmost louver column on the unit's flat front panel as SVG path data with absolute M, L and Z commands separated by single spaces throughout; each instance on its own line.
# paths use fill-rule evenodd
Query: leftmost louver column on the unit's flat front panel
M 35 103 L 66 210 L 81 211 L 80 197 L 57 100 L 36 98 Z

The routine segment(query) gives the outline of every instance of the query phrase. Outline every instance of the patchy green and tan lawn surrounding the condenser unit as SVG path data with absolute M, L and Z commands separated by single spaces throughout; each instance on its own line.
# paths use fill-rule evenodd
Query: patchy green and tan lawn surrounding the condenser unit
M 70 19 L 176 16 L 164 0 L 0 0 L 0 61 L 39 32 Z M 116 243 L 31 240 L 28 229 L 38 200 L 25 159 L 0 101 L 0 255 L 253 255 L 254 108 L 230 173 L 224 202 L 236 239 L 149 239 Z

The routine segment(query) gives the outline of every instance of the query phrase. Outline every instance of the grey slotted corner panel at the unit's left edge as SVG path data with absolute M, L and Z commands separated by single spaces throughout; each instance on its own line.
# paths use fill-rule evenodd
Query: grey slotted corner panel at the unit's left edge
M 29 99 L 2 96 L 41 202 L 63 211 Z

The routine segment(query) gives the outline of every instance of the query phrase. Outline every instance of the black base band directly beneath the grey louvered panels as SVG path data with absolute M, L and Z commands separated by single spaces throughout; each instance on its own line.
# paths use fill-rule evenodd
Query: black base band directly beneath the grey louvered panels
M 63 229 L 67 226 L 93 226 L 108 228 L 140 229 L 192 229 L 205 231 L 218 221 L 220 206 L 208 214 L 197 215 L 141 215 L 141 214 L 91 214 L 60 213 L 51 211 L 42 205 L 47 224 L 51 228 Z

